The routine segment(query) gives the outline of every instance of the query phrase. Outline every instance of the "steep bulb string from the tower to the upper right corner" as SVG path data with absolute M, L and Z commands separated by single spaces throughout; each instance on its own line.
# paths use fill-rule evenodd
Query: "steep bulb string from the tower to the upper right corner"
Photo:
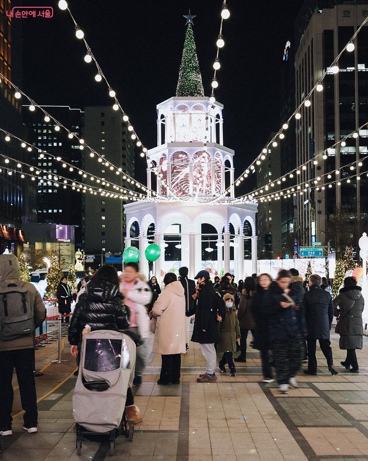
M 305 95 L 305 98 L 300 102 L 299 106 L 295 109 L 295 111 L 293 112 L 292 115 L 290 115 L 290 117 L 288 118 L 288 120 L 283 124 L 282 128 L 276 133 L 276 136 L 270 140 L 270 142 L 268 142 L 265 146 L 265 154 L 268 153 L 268 148 L 274 144 L 276 142 L 276 138 L 280 136 L 280 134 L 282 133 L 283 130 L 285 130 L 285 125 L 288 125 L 290 120 L 292 120 L 293 117 L 295 117 L 297 120 L 299 120 L 301 118 L 301 109 L 303 106 L 305 107 L 310 107 L 311 106 L 311 101 L 312 101 L 312 95 L 313 95 L 313 92 L 314 90 L 318 91 L 318 92 L 321 92 L 323 91 L 323 80 L 325 79 L 326 75 L 328 75 L 328 73 L 330 72 L 333 72 L 333 73 L 338 73 L 339 72 L 339 65 L 338 65 L 338 62 L 339 62 L 339 59 L 341 57 L 341 55 L 344 53 L 344 51 L 348 51 L 348 52 L 352 52 L 354 49 L 355 49 L 355 45 L 354 45 L 354 41 L 357 37 L 357 35 L 359 34 L 360 30 L 362 30 L 362 27 L 367 23 L 368 21 L 368 16 L 367 18 L 364 19 L 364 21 L 362 22 L 362 24 L 357 28 L 356 32 L 354 33 L 354 35 L 351 37 L 351 39 L 346 43 L 345 47 L 343 47 L 343 49 L 340 51 L 340 53 L 335 57 L 333 63 L 326 68 L 326 71 L 323 72 L 322 76 L 319 78 L 319 80 L 317 81 L 317 83 L 314 85 L 314 87 L 311 89 L 311 91 Z M 232 184 L 230 184 L 230 186 L 225 189 L 224 193 L 219 195 L 216 199 L 214 199 L 213 201 L 218 201 L 220 198 L 224 197 L 224 195 L 228 194 L 230 192 L 230 189 L 232 189 L 234 186 L 236 185 L 239 185 L 242 181 L 242 177 L 243 179 L 245 177 L 247 177 L 248 173 L 247 173 L 247 170 L 250 170 L 251 169 L 251 166 L 254 166 L 254 164 L 256 163 L 257 160 L 259 160 L 260 158 L 260 155 L 258 155 L 256 157 L 255 160 L 253 160 L 253 162 L 251 163 L 251 165 L 249 165 L 246 170 L 244 170 L 242 172 L 242 174 L 234 180 L 234 182 Z

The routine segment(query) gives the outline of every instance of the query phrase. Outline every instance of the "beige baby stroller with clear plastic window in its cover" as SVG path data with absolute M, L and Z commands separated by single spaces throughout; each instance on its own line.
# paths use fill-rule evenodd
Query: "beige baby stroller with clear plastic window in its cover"
M 120 434 L 132 441 L 134 426 L 128 423 L 125 402 L 127 388 L 133 384 L 135 358 L 136 345 L 127 334 L 96 330 L 83 337 L 73 394 L 77 455 L 84 437 L 108 435 L 110 455 Z

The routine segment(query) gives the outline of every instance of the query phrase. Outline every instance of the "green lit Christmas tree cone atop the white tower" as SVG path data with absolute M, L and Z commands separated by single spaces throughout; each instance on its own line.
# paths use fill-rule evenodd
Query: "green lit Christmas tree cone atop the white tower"
M 204 96 L 202 76 L 196 52 L 196 41 L 194 40 L 190 22 L 185 34 L 176 95 L 178 97 Z

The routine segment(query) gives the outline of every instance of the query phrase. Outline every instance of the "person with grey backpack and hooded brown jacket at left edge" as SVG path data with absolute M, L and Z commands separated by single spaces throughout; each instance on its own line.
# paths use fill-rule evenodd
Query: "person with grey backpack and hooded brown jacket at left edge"
M 23 414 L 23 429 L 37 432 L 37 397 L 34 376 L 35 329 L 46 318 L 46 307 L 34 285 L 19 280 L 19 262 L 14 254 L 0 255 L 0 434 L 11 431 L 13 371 L 17 373 Z

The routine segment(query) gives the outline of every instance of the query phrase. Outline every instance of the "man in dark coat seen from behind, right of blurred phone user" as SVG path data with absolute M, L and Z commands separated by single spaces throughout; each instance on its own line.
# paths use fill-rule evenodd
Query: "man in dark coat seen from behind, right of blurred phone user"
M 303 298 L 305 319 L 308 325 L 308 370 L 304 372 L 308 375 L 317 374 L 316 343 L 318 339 L 323 355 L 327 359 L 328 370 L 335 375 L 338 372 L 334 369 L 330 343 L 334 304 L 328 291 L 321 290 L 321 284 L 322 278 L 317 274 L 312 274 L 309 278 L 309 291 Z

